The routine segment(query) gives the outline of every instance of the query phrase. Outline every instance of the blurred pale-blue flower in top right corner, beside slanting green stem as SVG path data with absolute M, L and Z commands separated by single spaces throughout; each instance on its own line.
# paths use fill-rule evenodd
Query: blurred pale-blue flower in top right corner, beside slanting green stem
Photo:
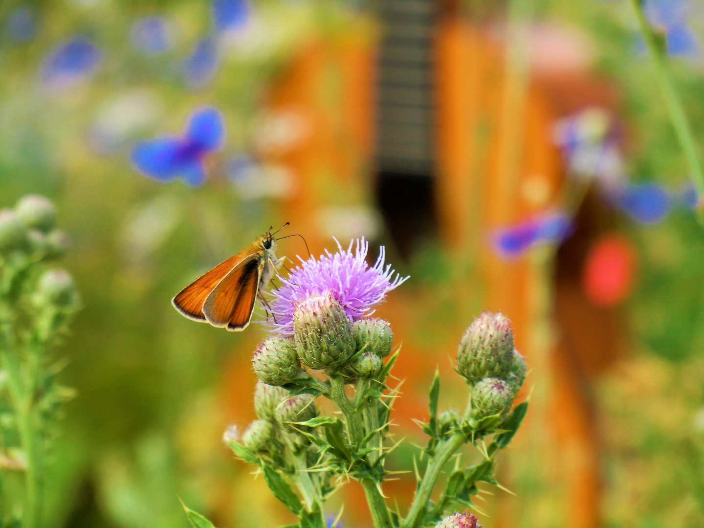
M 668 54 L 677 56 L 699 54 L 699 42 L 689 29 L 691 14 L 689 1 L 645 0 L 643 7 L 650 23 L 665 30 Z

